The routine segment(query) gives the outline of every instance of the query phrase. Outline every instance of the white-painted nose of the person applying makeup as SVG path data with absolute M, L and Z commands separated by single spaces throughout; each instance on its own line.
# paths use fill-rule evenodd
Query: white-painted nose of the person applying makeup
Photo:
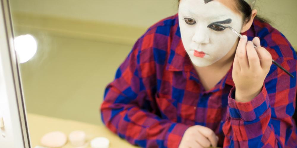
M 208 44 L 208 28 L 205 26 L 198 26 L 195 30 L 195 34 L 192 38 L 192 41 L 196 42 L 197 44 Z

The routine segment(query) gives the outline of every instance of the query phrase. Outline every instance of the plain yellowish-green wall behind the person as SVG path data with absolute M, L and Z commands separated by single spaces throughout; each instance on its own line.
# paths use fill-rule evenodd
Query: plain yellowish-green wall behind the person
M 13 0 L 10 4 L 15 35 L 30 33 L 38 42 L 36 55 L 20 65 L 27 111 L 94 124 L 102 124 L 98 111 L 104 89 L 134 41 L 149 26 L 177 12 L 177 0 Z M 255 7 L 293 47 L 296 6 L 296 0 L 258 0 Z M 131 29 L 129 34 L 120 33 L 123 26 Z M 102 30 L 114 34 L 106 37 Z

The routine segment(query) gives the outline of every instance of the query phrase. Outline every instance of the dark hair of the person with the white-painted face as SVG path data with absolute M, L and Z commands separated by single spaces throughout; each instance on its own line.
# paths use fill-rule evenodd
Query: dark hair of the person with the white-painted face
M 179 6 L 179 1 L 180 0 L 178 0 L 178 6 Z M 252 8 L 244 0 L 236 0 L 235 2 L 236 2 L 236 6 L 237 6 L 236 9 L 239 12 L 241 12 L 241 15 L 243 17 L 243 22 L 245 23 L 245 22 L 249 21 L 252 17 Z M 258 15 L 255 16 L 255 19 L 259 20 L 260 22 L 271 23 L 266 18 L 260 17 Z

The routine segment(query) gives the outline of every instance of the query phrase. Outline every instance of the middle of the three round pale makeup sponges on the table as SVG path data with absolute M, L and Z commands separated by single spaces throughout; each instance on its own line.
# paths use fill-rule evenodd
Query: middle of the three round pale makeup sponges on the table
M 86 143 L 86 133 L 84 131 L 72 131 L 69 134 L 69 141 L 75 147 L 83 146 Z

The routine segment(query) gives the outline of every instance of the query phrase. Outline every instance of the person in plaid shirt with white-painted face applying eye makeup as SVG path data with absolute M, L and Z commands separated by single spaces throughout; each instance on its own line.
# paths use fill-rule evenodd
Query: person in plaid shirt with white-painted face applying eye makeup
M 296 147 L 296 53 L 254 4 L 179 1 L 118 68 L 103 123 L 141 147 Z

